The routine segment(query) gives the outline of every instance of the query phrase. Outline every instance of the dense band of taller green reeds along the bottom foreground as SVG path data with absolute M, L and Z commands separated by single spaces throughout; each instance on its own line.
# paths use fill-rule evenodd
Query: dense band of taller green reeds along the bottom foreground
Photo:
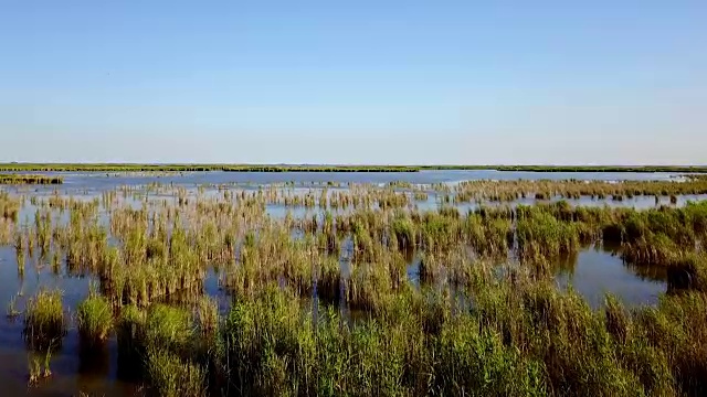
M 384 310 L 352 324 L 331 309 L 320 309 L 315 321 L 296 293 L 271 285 L 233 302 L 211 348 L 194 337 L 184 314 L 156 316 L 137 343 L 147 343 L 149 388 L 159 395 L 705 390 L 703 294 L 672 297 L 637 312 L 609 297 L 592 311 L 580 297 L 548 285 L 486 281 L 471 292 L 473 308 L 455 307 L 445 293 L 404 289 Z

